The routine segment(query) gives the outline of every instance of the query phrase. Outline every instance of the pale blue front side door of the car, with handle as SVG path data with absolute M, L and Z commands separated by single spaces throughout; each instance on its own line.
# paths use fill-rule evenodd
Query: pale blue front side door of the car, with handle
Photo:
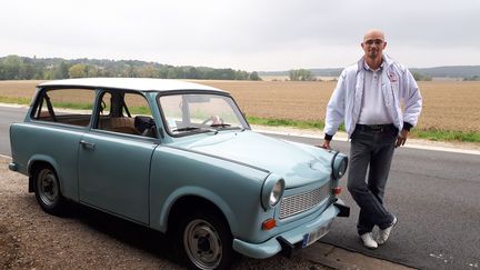
M 130 112 L 123 116 L 123 101 L 113 96 L 117 91 L 101 96 L 110 111 L 98 113 L 96 126 L 80 140 L 80 201 L 148 224 L 150 159 L 157 140 L 134 132 L 134 118 Z

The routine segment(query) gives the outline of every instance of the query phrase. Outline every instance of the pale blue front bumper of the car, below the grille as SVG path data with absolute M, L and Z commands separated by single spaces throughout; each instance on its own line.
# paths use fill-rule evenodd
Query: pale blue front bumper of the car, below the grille
M 243 256 L 256 259 L 269 258 L 279 253 L 280 251 L 291 254 L 296 247 L 301 247 L 306 234 L 322 230 L 324 230 L 327 233 L 331 222 L 337 216 L 348 217 L 349 213 L 350 208 L 344 206 L 339 199 L 337 202 L 328 207 L 317 219 L 303 223 L 289 231 L 284 231 L 266 242 L 250 243 L 239 239 L 233 239 L 233 249 Z

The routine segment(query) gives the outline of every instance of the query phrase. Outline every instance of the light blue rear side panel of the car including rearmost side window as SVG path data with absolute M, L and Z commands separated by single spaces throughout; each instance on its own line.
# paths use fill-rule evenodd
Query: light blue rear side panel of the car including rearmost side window
M 73 201 L 79 200 L 79 141 L 89 130 L 94 99 L 96 92 L 91 89 L 42 88 L 28 116 L 31 124 L 22 124 L 24 131 L 12 134 L 18 141 L 12 143 L 14 157 L 27 158 L 20 160 L 26 166 L 32 156 L 49 162 L 59 177 L 62 194 Z

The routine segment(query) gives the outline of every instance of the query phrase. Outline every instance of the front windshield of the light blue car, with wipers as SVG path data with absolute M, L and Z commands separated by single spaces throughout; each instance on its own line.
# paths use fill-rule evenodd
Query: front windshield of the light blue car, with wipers
M 159 98 L 159 106 L 167 129 L 173 136 L 248 128 L 236 102 L 228 96 L 168 94 Z

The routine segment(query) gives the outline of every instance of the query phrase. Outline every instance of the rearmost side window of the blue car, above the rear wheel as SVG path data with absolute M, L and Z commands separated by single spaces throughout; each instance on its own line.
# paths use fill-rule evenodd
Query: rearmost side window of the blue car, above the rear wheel
M 31 118 L 79 127 L 90 123 L 96 93 L 89 89 L 47 89 L 36 103 Z

